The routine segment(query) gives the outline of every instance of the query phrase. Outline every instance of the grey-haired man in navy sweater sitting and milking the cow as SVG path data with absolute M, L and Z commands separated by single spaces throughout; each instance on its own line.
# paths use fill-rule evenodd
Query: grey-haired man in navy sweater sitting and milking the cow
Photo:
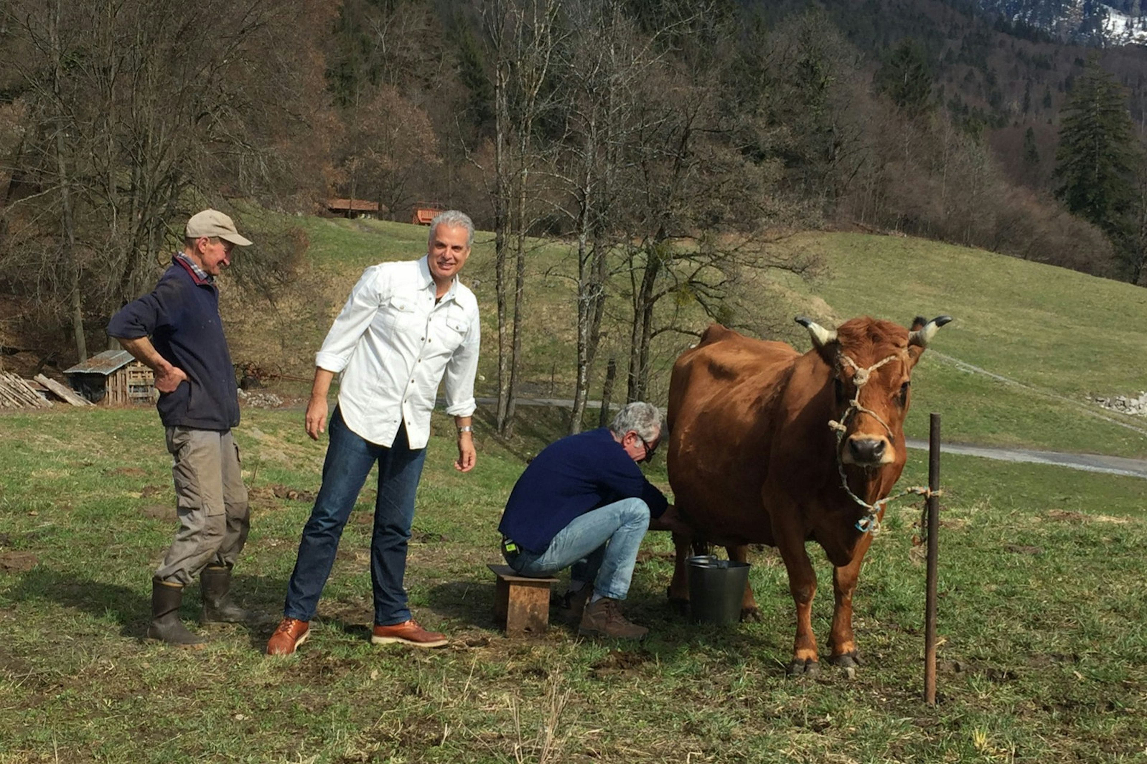
M 498 530 L 502 554 L 523 576 L 549 576 L 580 560 L 592 583 L 578 633 L 641 639 L 649 631 L 622 615 L 638 548 L 649 528 L 671 530 L 676 510 L 641 474 L 661 442 L 661 412 L 631 403 L 609 429 L 546 446 L 517 480 Z M 584 601 L 584 599 L 583 599 Z

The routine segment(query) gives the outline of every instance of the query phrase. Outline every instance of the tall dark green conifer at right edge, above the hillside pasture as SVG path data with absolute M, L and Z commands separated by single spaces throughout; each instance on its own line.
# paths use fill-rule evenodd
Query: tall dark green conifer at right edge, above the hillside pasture
M 1055 196 L 1072 213 L 1099 226 L 1119 249 L 1134 202 L 1140 161 L 1126 94 L 1092 60 L 1063 106 L 1055 151 Z

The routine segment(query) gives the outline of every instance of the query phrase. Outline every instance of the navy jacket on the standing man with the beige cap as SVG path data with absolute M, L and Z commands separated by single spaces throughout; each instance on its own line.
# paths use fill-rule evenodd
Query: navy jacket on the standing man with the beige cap
M 155 290 L 111 318 L 108 334 L 150 337 L 156 351 L 187 374 L 173 392 L 159 393 L 156 408 L 165 427 L 227 430 L 239 424 L 235 369 L 213 283 L 172 258 Z

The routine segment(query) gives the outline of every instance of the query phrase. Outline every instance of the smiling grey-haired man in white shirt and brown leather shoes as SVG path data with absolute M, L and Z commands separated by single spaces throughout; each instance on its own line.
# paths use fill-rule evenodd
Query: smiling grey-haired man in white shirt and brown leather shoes
M 478 366 L 478 302 L 458 280 L 474 242 L 462 212 L 430 224 L 427 256 L 370 266 L 351 290 L 315 357 L 306 432 L 327 421 L 327 391 L 342 374 L 330 415 L 322 486 L 303 528 L 283 619 L 268 655 L 289 655 L 310 636 L 310 621 L 330 575 L 338 539 L 375 462 L 379 496 L 370 543 L 376 645 L 440 647 L 446 637 L 422 629 L 406 607 L 403 576 L 414 493 L 430 436 L 430 412 L 445 379 L 446 413 L 458 426 L 454 468 L 474 468 L 474 376 Z

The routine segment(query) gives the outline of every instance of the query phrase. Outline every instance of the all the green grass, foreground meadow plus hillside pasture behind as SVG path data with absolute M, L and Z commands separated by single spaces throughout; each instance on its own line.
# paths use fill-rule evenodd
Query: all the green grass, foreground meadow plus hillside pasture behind
M 224 315 L 236 361 L 306 377 L 361 268 L 413 257 L 426 229 L 302 224 L 311 250 L 297 284 L 268 309 L 225 282 Z M 957 317 L 914 375 L 910 436 L 924 436 L 928 413 L 939 412 L 947 441 L 1147 455 L 1147 423 L 1086 403 L 1089 392 L 1147 387 L 1142 289 L 914 240 L 807 234 L 781 245 L 814 251 L 821 275 L 750 279 L 759 310 L 739 320 L 774 326 L 798 348 L 807 335 L 790 325 L 796 313 L 826 326 L 861 313 Z M 491 249 L 479 234 L 463 272 L 484 311 L 479 393 L 493 391 Z M 538 249 L 530 268 L 525 390 L 565 397 L 569 254 Z M 657 345 L 658 396 L 686 342 Z M 284 389 L 304 388 L 275 388 Z M 436 420 L 407 586 L 415 617 L 448 632 L 450 647 L 370 646 L 368 488 L 313 637 L 288 658 L 262 655 L 273 624 L 204 629 L 211 641 L 200 652 L 143 639 L 150 571 L 174 530 L 154 411 L 0 415 L 0 764 L 1147 762 L 1142 481 L 944 457 L 939 702 L 928 708 L 924 572 L 910 554 L 921 505 L 911 499 L 892 506 L 866 559 L 856 598 L 866 665 L 853 678 L 827 664 L 817 677 L 785 676 L 794 614 L 772 551 L 751 558 L 759 623 L 696 626 L 674 614 L 664 535 L 646 539 L 626 608 L 651 630 L 643 644 L 586 641 L 556 623 L 540 639 L 502 637 L 485 569 L 499 561 L 501 507 L 526 459 L 565 431 L 561 410 L 526 411 L 501 439 L 479 410 L 468 475 L 451 466 L 451 423 Z M 301 419 L 245 408 L 236 430 L 252 498 L 236 591 L 274 617 L 323 457 Z M 650 478 L 668 490 L 663 463 Z M 900 486 L 924 480 L 913 452 Z M 810 553 L 824 649 L 830 569 Z M 193 586 L 185 619 L 197 601 Z

